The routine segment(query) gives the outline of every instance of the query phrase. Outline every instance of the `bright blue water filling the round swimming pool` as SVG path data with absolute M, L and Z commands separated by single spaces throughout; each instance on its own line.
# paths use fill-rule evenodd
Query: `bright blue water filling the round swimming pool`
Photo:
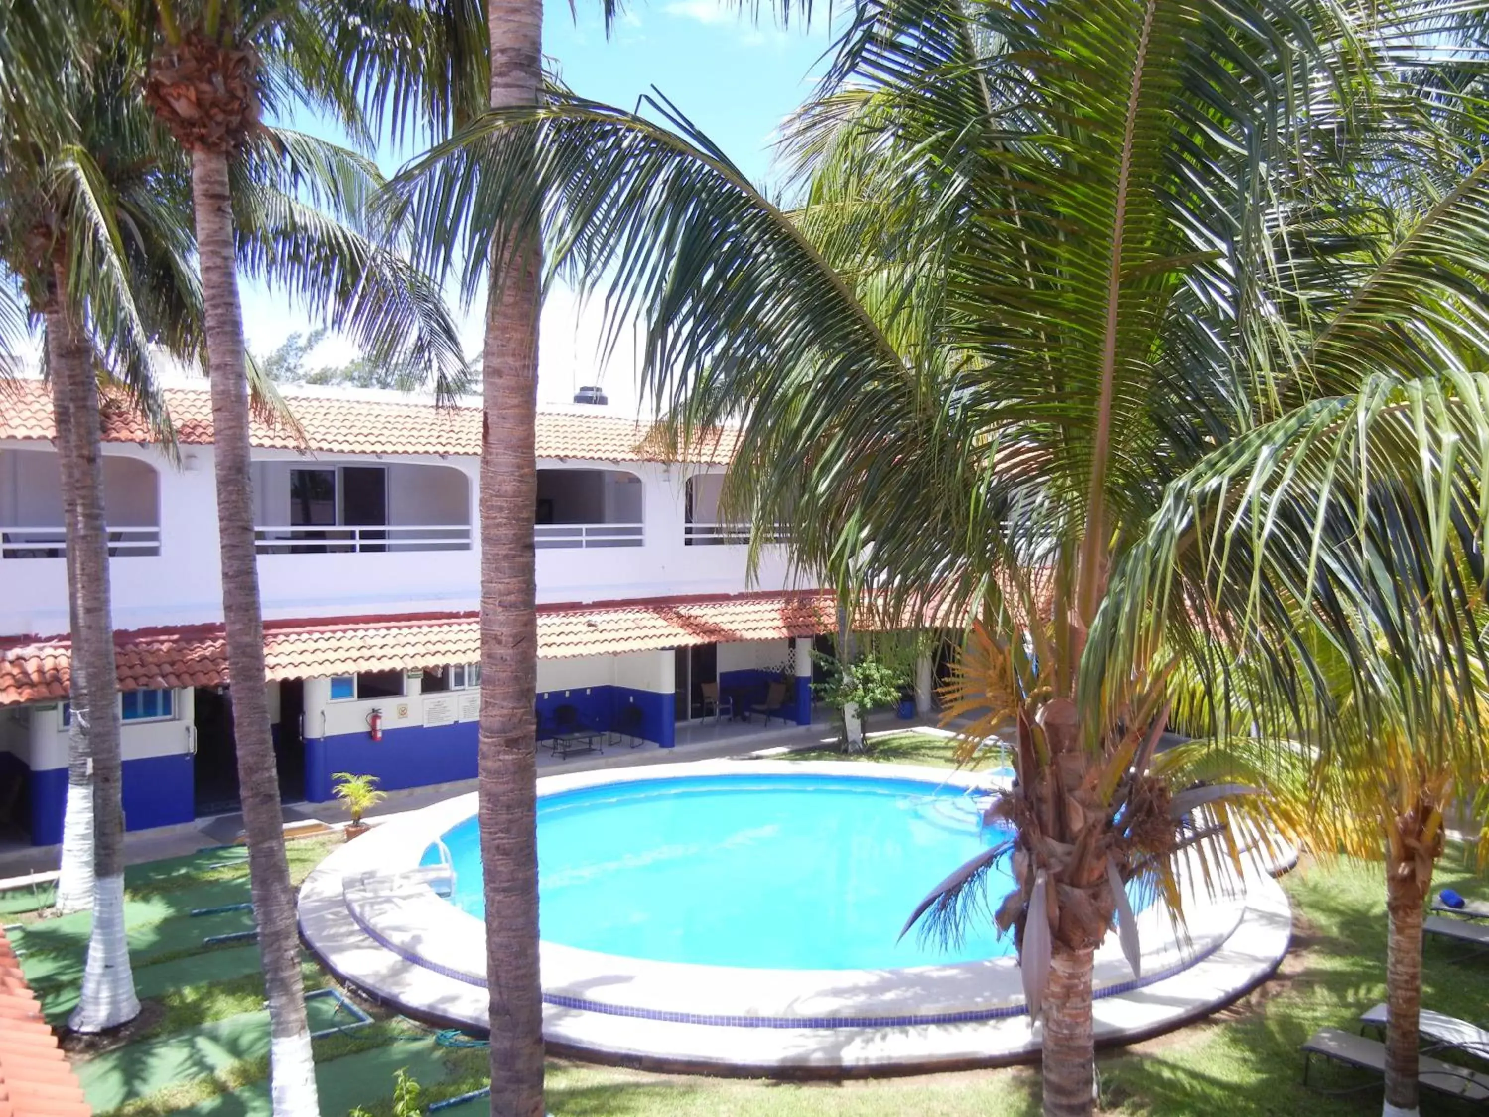
M 858 970 L 995 958 L 989 919 L 953 947 L 905 917 L 1004 836 L 957 788 L 904 779 L 719 776 L 642 780 L 538 803 L 542 937 L 664 962 Z M 476 821 L 444 836 L 451 901 L 484 913 Z M 430 846 L 424 862 L 438 859 Z M 992 904 L 1011 888 L 998 871 Z

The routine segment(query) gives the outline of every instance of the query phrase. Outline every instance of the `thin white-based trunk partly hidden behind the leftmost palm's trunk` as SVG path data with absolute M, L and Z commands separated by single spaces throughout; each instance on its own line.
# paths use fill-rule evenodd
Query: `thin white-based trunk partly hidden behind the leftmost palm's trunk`
M 61 354 L 57 347 L 61 340 L 54 325 L 52 313 L 48 313 L 46 357 L 51 368 L 58 366 Z M 57 426 L 57 462 L 61 472 L 63 487 L 63 526 L 67 538 L 67 615 L 68 631 L 73 634 L 73 646 L 79 646 L 82 620 L 77 615 L 77 483 L 76 483 L 76 450 L 71 411 L 67 407 L 67 393 L 63 390 L 63 380 L 52 375 L 52 417 Z M 57 910 L 61 914 L 70 911 L 88 911 L 94 900 L 92 871 L 92 757 L 88 752 L 88 734 L 83 725 L 88 724 L 86 670 L 82 655 L 74 655 L 68 670 L 68 701 L 74 712 L 83 716 L 70 718 L 67 727 L 67 804 L 63 812 L 63 856 L 57 877 Z

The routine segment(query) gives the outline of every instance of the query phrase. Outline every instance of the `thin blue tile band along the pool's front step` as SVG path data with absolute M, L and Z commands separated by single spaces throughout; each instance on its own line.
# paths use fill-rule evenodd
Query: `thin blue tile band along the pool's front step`
M 386 935 L 377 931 L 371 923 L 368 923 L 362 914 L 347 904 L 347 911 L 350 913 L 353 922 L 362 928 L 362 932 L 381 946 L 386 950 L 392 950 L 395 955 L 402 958 L 405 962 L 421 967 L 442 977 L 448 977 L 456 981 L 463 981 L 465 984 L 475 986 L 476 989 L 485 989 L 487 981 L 484 977 L 469 974 L 463 970 L 456 970 L 454 967 L 441 965 L 421 955 L 408 950 L 398 943 L 393 943 Z M 1234 932 L 1233 932 L 1234 934 Z M 1214 943 L 1205 950 L 1199 952 L 1193 958 L 1188 958 L 1175 965 L 1158 970 L 1157 973 L 1148 974 L 1147 977 L 1135 977 L 1127 981 L 1117 981 L 1115 984 L 1102 986 L 1091 992 L 1093 1001 L 1100 1001 L 1105 996 L 1121 996 L 1123 993 L 1132 993 L 1138 989 L 1145 989 L 1150 984 L 1157 984 L 1158 981 L 1166 981 L 1170 977 L 1182 974 L 1185 970 L 1199 965 L 1206 958 L 1219 950 L 1225 943 L 1230 941 L 1230 935 Z M 561 993 L 543 993 L 543 1004 L 551 1004 L 555 1008 L 573 1008 L 584 1013 L 602 1013 L 605 1016 L 624 1016 L 633 1020 L 658 1020 L 661 1023 L 686 1023 L 686 1025 L 703 1025 L 709 1028 L 774 1028 L 774 1029 L 789 1029 L 789 1028 L 917 1028 L 925 1025 L 954 1025 L 954 1023 L 978 1023 L 983 1020 L 1008 1020 L 1015 1016 L 1027 1016 L 1029 1005 L 1013 1004 L 999 1005 L 998 1008 L 969 1008 L 959 1013 L 920 1013 L 920 1014 L 905 1014 L 905 1016 L 712 1016 L 709 1013 L 675 1013 L 660 1008 L 640 1008 L 636 1005 L 615 1005 L 605 1004 L 602 1001 L 590 1001 L 582 996 L 564 996 Z

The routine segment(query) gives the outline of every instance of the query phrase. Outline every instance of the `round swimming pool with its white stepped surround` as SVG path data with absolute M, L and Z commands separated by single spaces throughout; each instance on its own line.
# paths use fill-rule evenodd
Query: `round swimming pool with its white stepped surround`
M 749 1074 L 990 1065 L 1029 1057 L 1018 959 L 986 914 L 946 946 L 899 929 L 1002 840 L 980 803 L 1005 773 L 831 761 L 698 761 L 538 782 L 543 1035 L 551 1050 Z M 299 892 L 320 962 L 427 1020 L 488 1022 L 474 794 L 337 849 Z M 454 889 L 441 859 L 454 864 Z M 1099 1040 L 1175 1028 L 1263 980 L 1286 950 L 1266 874 L 1187 873 L 1185 925 L 1138 913 L 1139 973 L 1097 950 Z M 995 870 L 989 906 L 1011 886 Z

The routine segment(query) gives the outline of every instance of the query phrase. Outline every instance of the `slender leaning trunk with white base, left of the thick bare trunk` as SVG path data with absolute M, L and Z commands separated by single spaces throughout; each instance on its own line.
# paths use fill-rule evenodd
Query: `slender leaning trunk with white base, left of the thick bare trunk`
M 284 855 L 284 812 L 270 731 L 264 681 L 264 618 L 253 551 L 253 494 L 249 475 L 249 386 L 244 369 L 243 308 L 238 302 L 232 197 L 228 158 L 192 150 L 197 250 L 207 313 L 207 366 L 217 481 L 217 535 L 222 547 L 222 612 L 232 684 L 232 730 L 238 749 L 243 825 L 249 841 L 253 916 L 270 1004 L 270 1095 L 275 1117 L 319 1114 L 316 1066 L 295 926 L 295 891 Z

